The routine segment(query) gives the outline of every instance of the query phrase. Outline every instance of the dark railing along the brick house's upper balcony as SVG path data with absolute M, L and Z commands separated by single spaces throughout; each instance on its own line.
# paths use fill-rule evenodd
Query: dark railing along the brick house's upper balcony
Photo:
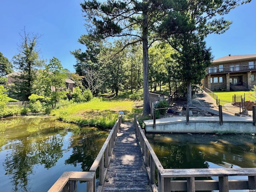
M 206 72 L 208 74 L 213 73 L 222 73 L 222 72 L 237 72 L 237 71 L 250 71 L 250 70 L 256 70 L 256 65 L 241 65 L 241 66 L 229 66 L 229 67 L 216 67 L 216 68 L 210 68 L 206 69 Z

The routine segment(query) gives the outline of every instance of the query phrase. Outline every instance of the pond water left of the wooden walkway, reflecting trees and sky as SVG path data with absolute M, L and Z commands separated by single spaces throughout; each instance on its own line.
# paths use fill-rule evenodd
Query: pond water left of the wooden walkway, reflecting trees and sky
M 1 119 L 0 191 L 46 192 L 64 171 L 88 171 L 107 136 L 46 116 Z

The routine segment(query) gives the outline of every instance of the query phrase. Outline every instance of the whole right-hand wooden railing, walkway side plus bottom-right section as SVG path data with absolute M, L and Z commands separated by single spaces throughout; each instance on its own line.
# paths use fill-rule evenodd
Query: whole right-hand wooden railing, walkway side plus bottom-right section
M 144 130 L 141 129 L 136 114 L 134 115 L 134 124 L 153 191 L 219 190 L 228 192 L 229 190 L 244 189 L 256 191 L 256 168 L 164 169 L 150 146 Z M 155 165 L 158 169 L 158 188 L 154 178 Z M 217 176 L 219 180 L 195 180 L 196 177 L 212 176 Z M 248 180 L 228 180 L 229 176 L 248 176 Z M 178 177 L 187 178 L 187 180 L 172 180 L 172 178 Z

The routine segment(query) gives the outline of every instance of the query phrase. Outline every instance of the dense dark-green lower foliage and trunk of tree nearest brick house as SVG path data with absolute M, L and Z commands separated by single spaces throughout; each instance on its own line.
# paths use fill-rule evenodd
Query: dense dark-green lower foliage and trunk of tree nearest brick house
M 192 84 L 200 84 L 206 76 L 205 69 L 210 66 L 212 55 L 206 42 L 200 40 L 193 34 L 183 35 L 183 39 L 178 39 L 179 52 L 172 56 L 177 63 L 177 74 L 179 80 L 186 85 L 187 104 L 192 105 Z M 184 41 L 183 41 L 184 40 Z

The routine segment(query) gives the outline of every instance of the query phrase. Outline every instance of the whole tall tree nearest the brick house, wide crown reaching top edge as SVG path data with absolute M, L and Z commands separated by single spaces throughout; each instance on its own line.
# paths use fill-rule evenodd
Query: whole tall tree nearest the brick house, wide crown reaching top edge
M 240 4 L 251 0 L 202 0 L 174 1 L 176 6 L 169 11 L 158 26 L 158 34 L 168 40 L 178 52 L 175 56 L 180 79 L 187 86 L 187 103 L 191 105 L 191 84 L 197 83 L 212 56 L 205 46 L 204 38 L 208 34 L 224 33 L 232 22 L 224 20 Z

